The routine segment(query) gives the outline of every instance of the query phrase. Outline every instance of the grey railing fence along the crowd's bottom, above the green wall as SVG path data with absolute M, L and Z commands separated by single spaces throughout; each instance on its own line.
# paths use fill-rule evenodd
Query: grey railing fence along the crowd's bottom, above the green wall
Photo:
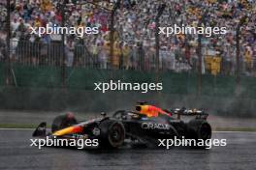
M 202 72 L 211 74 L 236 75 L 238 63 L 236 56 L 221 57 L 210 54 L 203 49 Z M 63 57 L 64 56 L 64 57 Z M 0 50 L 0 61 L 7 58 Z M 65 64 L 68 68 L 86 69 L 117 69 L 135 71 L 156 71 L 155 49 L 144 46 L 126 46 L 114 48 L 110 57 L 110 46 L 85 45 L 75 42 L 62 46 L 61 42 L 11 42 L 11 62 L 28 66 L 54 66 Z M 184 51 L 167 49 L 160 50 L 159 70 L 175 72 L 198 72 L 199 60 L 197 54 L 188 58 Z M 256 59 L 240 56 L 240 73 L 256 76 Z

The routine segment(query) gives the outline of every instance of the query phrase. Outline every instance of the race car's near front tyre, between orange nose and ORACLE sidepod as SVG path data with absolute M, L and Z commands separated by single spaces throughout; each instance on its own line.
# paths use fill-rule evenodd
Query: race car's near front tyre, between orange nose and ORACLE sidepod
M 100 125 L 100 147 L 118 148 L 123 145 L 125 139 L 125 128 L 122 123 L 115 120 L 105 120 Z

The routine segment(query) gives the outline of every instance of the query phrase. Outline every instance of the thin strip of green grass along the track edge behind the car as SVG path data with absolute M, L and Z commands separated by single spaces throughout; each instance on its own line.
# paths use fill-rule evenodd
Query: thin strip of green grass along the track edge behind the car
M 0 128 L 37 128 L 33 124 L 0 124 Z M 50 126 L 48 126 L 50 128 Z M 256 128 L 213 128 L 214 131 L 256 131 Z

